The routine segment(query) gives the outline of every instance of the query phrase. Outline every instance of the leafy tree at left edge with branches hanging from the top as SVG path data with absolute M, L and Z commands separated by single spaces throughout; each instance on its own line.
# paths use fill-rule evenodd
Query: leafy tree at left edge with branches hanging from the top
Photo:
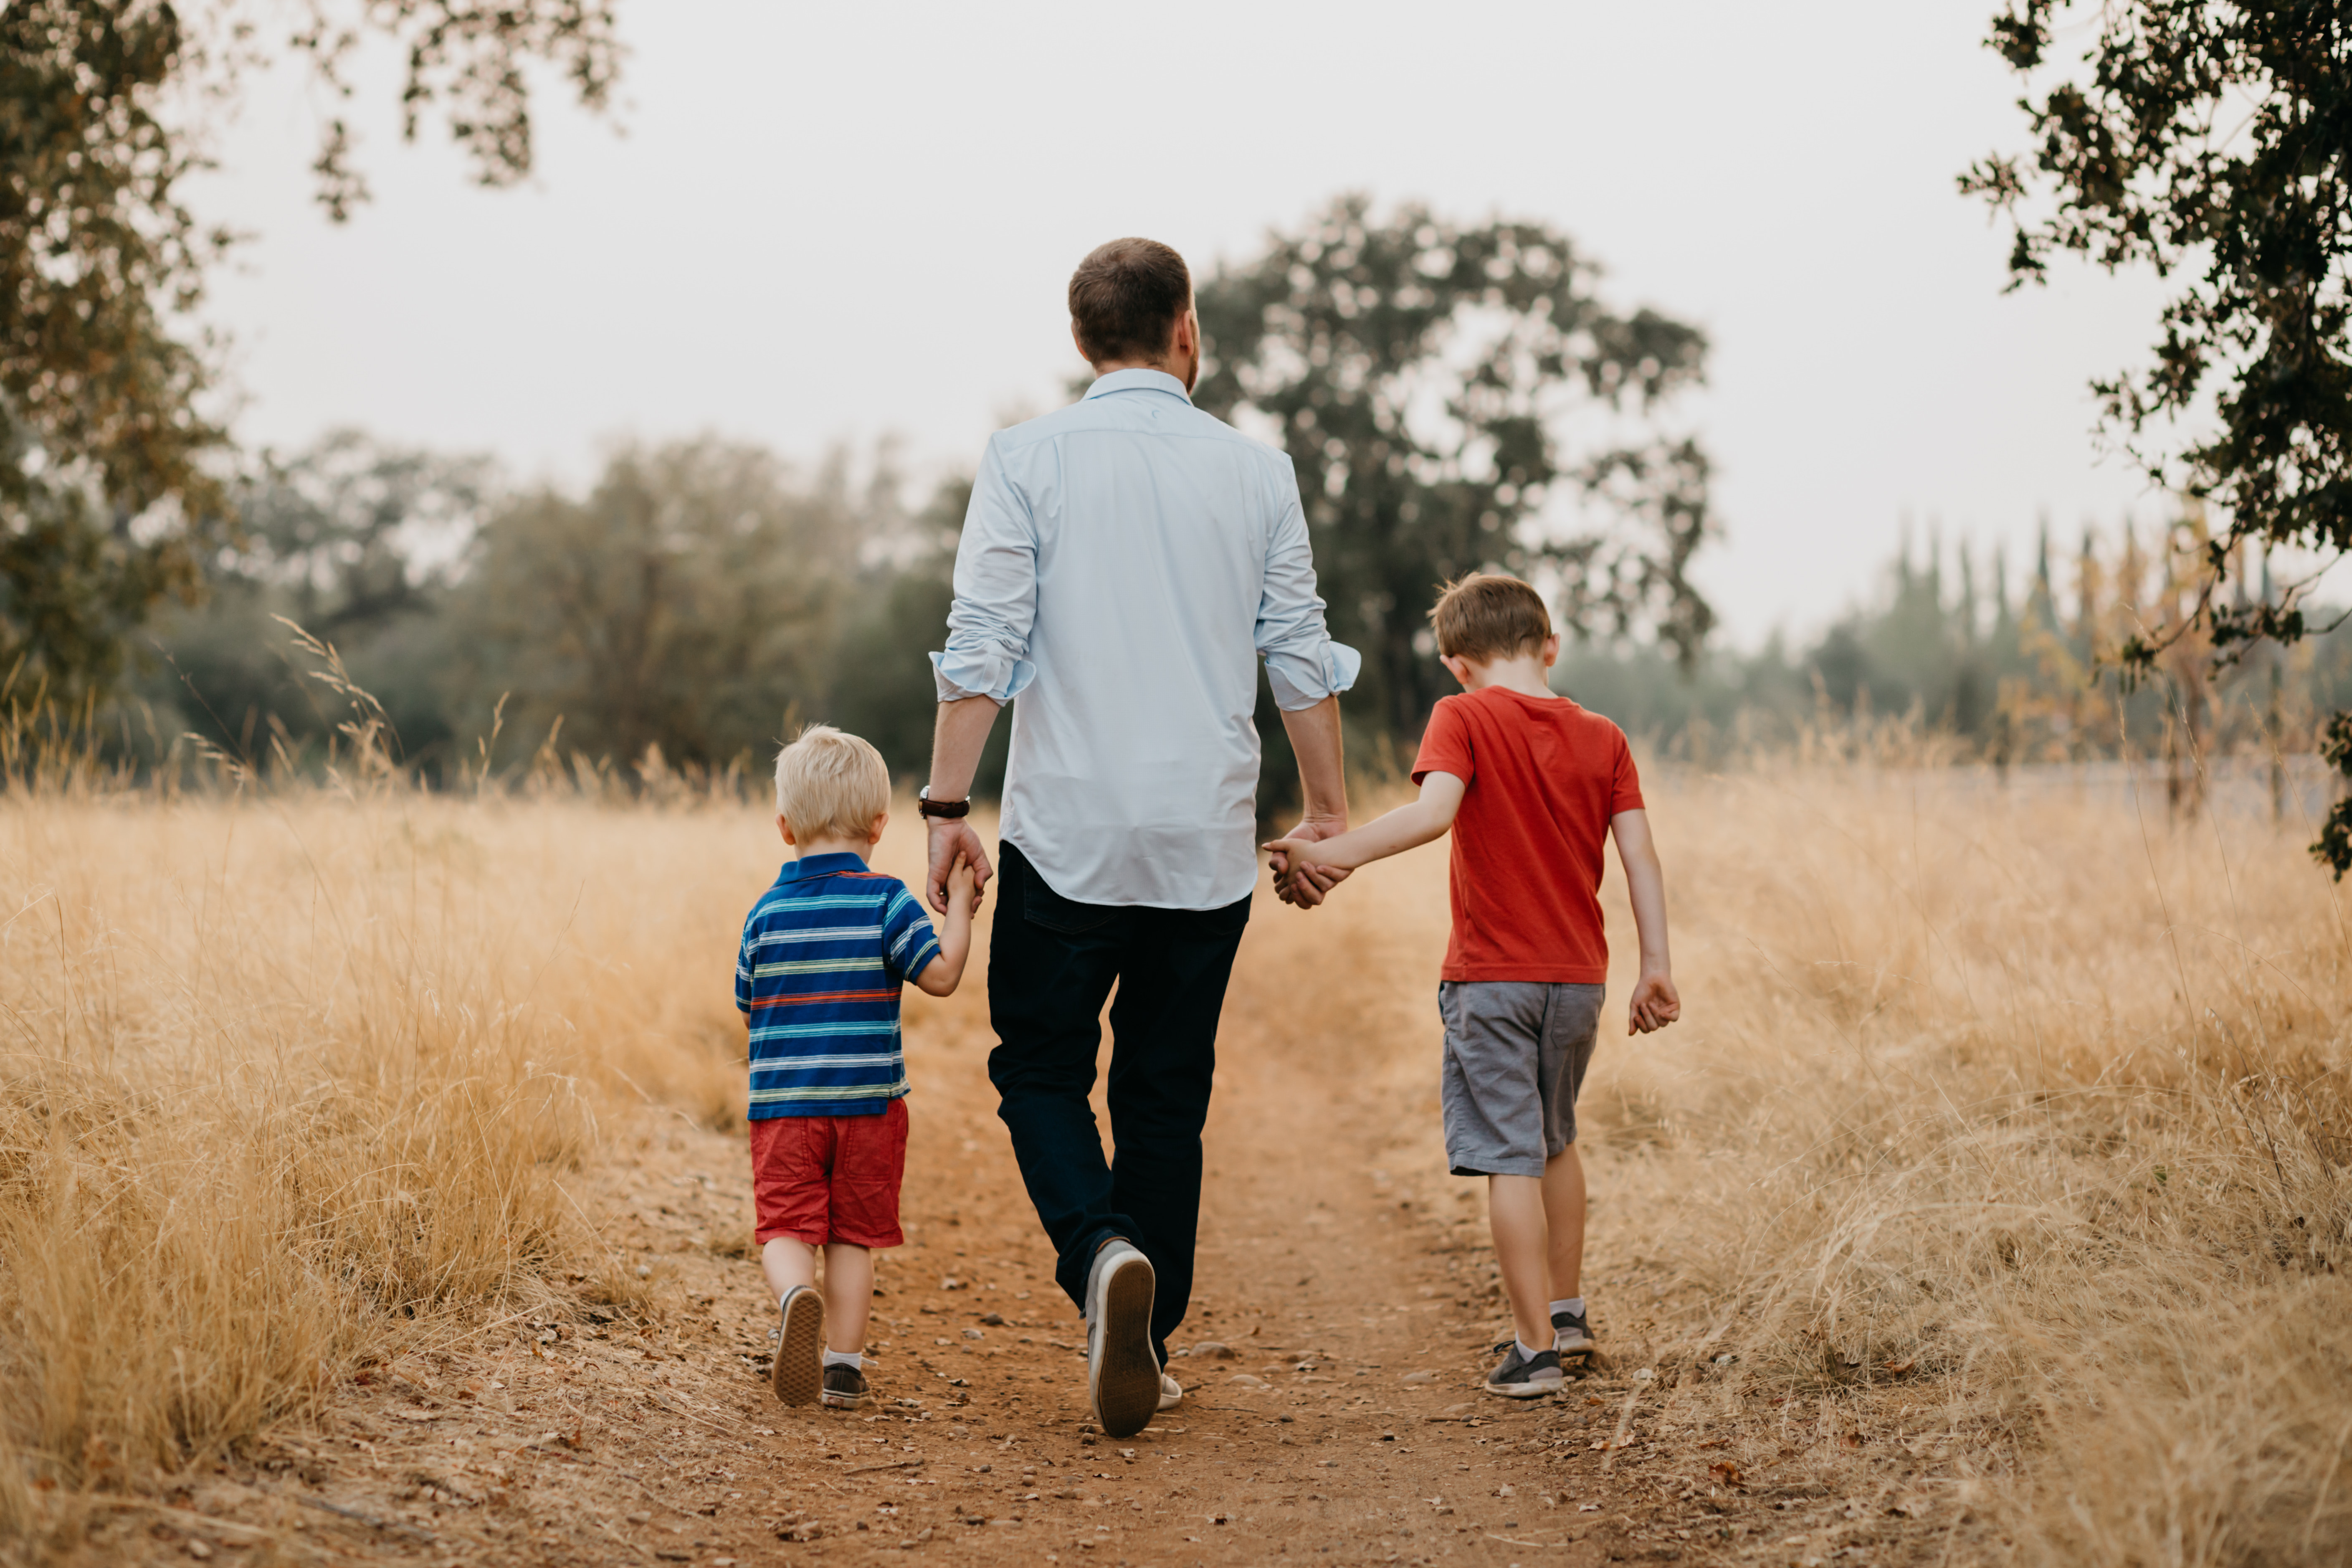
M 527 59 L 557 61 L 588 108 L 619 63 L 609 0 L 301 0 L 285 47 L 348 96 L 367 33 L 407 52 L 405 132 L 447 103 L 494 186 L 532 167 Z M 205 127 L 167 106 L 233 101 L 259 40 L 235 0 L 200 24 L 165 0 L 0 5 L 0 682 L 19 698 L 106 693 L 129 630 L 193 597 L 233 534 L 191 324 L 230 237 L 179 197 Z M 329 216 L 365 200 L 341 120 L 315 172 Z

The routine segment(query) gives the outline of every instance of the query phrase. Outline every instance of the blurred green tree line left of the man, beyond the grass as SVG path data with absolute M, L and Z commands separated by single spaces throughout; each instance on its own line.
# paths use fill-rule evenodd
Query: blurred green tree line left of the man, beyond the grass
M 809 719 L 906 773 L 967 487 L 910 510 L 887 449 L 849 468 L 691 440 L 612 451 L 586 494 L 499 491 L 485 458 L 334 433 L 240 494 L 240 548 L 153 623 L 127 701 L 238 766 L 315 769 L 348 701 L 301 628 L 437 788 L 757 771 Z

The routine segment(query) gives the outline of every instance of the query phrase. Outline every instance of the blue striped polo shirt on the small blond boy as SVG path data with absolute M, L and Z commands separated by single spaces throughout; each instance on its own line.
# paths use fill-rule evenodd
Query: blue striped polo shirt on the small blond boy
M 750 1119 L 880 1117 L 906 1093 L 898 985 L 938 957 L 922 905 L 858 856 L 786 860 L 743 922 Z

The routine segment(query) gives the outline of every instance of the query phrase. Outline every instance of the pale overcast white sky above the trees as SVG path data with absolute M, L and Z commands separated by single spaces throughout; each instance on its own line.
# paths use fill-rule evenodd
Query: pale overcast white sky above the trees
M 348 226 L 310 205 L 294 73 L 193 195 L 254 233 L 209 308 L 247 442 L 353 423 L 562 482 L 699 430 L 969 465 L 1082 369 L 1063 284 L 1112 235 L 1207 273 L 1348 188 L 1543 219 L 1712 336 L 1700 581 L 1752 642 L 1870 592 L 1905 515 L 2023 574 L 2042 512 L 2161 512 L 2086 393 L 2145 353 L 2157 284 L 2004 296 L 2006 230 L 1955 193 L 2025 141 L 1992 9 L 621 0 L 621 113 L 543 94 L 527 188 L 468 186 L 437 127 L 400 146 L 379 71 Z

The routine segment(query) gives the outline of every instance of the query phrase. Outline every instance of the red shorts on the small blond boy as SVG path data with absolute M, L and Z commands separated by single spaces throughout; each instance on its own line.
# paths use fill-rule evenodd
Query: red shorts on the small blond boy
M 880 1117 L 767 1117 L 750 1124 L 755 1237 L 823 1246 L 906 1246 L 906 1098 Z

